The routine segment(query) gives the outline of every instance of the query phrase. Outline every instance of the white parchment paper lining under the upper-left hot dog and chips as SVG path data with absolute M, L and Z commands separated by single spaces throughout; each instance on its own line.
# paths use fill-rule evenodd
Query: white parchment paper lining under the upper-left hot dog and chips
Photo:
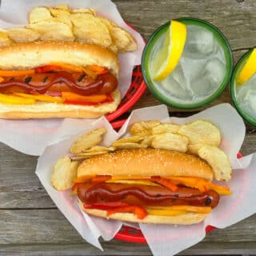
M 118 89 L 123 97 L 130 87 L 134 66 L 141 63 L 142 50 L 145 42 L 138 32 L 127 26 L 119 14 L 117 7 L 110 0 L 2 0 L 0 8 L 0 29 L 26 25 L 30 10 L 36 6 L 56 6 L 64 3 L 72 8 L 93 8 L 98 15 L 108 18 L 128 30 L 138 42 L 137 51 L 118 55 L 121 65 Z M 25 154 L 40 155 L 47 145 L 65 138 L 65 131 L 62 134 L 64 137 L 55 134 L 56 130 L 62 126 L 62 122 L 63 119 L 31 119 L 22 121 L 0 119 L 0 142 Z M 85 119 L 83 122 L 84 126 L 86 126 L 92 120 Z

